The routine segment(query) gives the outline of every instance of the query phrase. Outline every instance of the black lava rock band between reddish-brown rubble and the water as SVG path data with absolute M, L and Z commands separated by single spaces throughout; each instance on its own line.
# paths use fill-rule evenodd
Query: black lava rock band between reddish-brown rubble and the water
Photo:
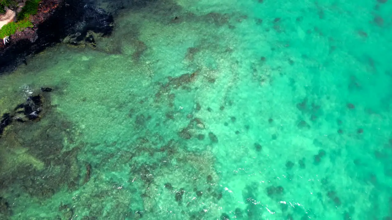
M 66 2 L 67 6 L 56 8 L 50 18 L 37 26 L 32 39 L 13 41 L 11 36 L 11 42 L 0 50 L 0 74 L 15 70 L 21 63 L 27 64 L 27 56 L 42 52 L 66 36 L 74 36 L 73 43 L 78 44 L 85 40 L 88 31 L 102 36 L 109 36 L 113 31 L 113 16 L 105 10 L 80 0 Z

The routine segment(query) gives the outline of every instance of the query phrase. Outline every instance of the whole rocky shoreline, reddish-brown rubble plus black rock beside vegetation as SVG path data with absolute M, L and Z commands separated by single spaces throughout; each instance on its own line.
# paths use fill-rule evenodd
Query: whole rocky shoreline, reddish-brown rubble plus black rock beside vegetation
M 11 72 L 26 62 L 26 57 L 60 43 L 68 36 L 78 41 L 91 42 L 93 31 L 103 36 L 113 31 L 113 16 L 103 9 L 80 0 L 42 0 L 38 13 L 31 16 L 34 27 L 9 36 L 9 43 L 0 43 L 0 74 Z

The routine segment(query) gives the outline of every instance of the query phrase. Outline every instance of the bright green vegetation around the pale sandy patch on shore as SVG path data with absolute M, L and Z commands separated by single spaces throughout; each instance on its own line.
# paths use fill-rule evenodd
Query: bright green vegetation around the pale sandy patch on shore
M 2 39 L 5 36 L 15 34 L 16 31 L 23 31 L 26 27 L 33 27 L 33 23 L 30 22 L 29 18 L 30 15 L 37 13 L 40 1 L 41 0 L 27 0 L 22 11 L 16 16 L 17 22 L 7 23 L 0 29 L 0 38 Z M 2 13 L 1 9 L 5 6 L 16 9 L 17 5 L 18 3 L 16 3 L 15 0 L 0 0 L 0 14 Z

